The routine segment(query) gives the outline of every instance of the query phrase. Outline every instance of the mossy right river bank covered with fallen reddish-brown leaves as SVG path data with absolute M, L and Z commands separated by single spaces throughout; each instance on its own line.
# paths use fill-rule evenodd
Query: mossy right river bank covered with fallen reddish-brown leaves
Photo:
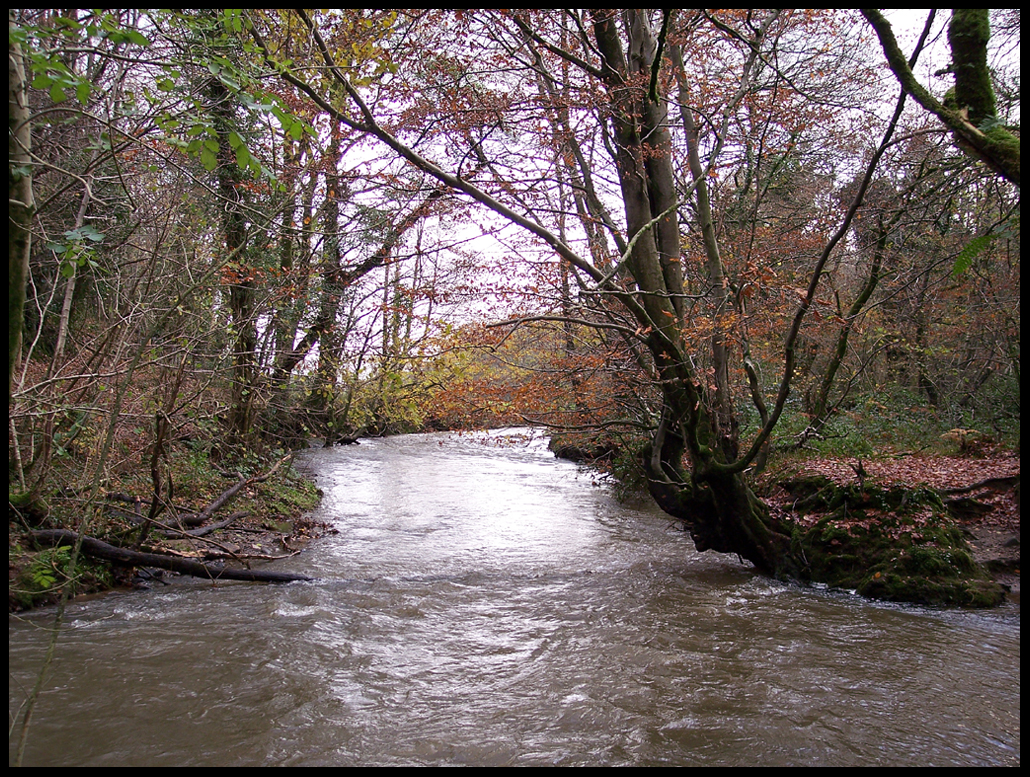
M 619 491 L 645 489 L 610 438 L 552 439 L 555 455 L 590 465 Z M 888 601 L 993 607 L 1020 596 L 1020 457 L 1000 447 L 959 454 L 868 458 L 794 450 L 753 483 L 803 550 L 802 577 Z

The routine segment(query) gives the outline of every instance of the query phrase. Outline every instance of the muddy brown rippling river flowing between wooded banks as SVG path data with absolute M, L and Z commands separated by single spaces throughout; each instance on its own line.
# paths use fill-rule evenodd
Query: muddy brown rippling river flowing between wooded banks
M 1020 763 L 1020 610 L 871 603 L 698 554 L 546 441 L 312 449 L 338 534 L 263 585 L 74 602 L 27 766 Z M 9 706 L 53 610 L 9 618 Z

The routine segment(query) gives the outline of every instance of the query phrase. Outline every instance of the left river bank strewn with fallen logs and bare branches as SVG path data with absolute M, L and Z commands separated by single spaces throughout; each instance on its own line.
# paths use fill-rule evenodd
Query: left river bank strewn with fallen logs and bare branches
M 234 463 L 234 471 L 227 468 L 230 463 L 215 466 L 206 458 L 173 455 L 169 482 L 179 484 L 181 496 L 167 500 L 148 529 L 150 501 L 145 486 L 132 477 L 110 481 L 89 504 L 84 495 L 71 492 L 11 505 L 8 611 L 55 604 L 69 584 L 72 596 L 87 597 L 160 585 L 171 574 L 152 559 L 112 563 L 84 553 L 72 570 L 72 548 L 62 530 L 83 531 L 111 550 L 159 556 L 159 564 L 167 559 L 169 565 L 197 563 L 212 570 L 267 565 L 299 553 L 332 530 L 310 517 L 321 492 L 293 469 L 291 459 L 252 458 Z M 42 537 L 61 541 L 52 545 L 40 542 Z

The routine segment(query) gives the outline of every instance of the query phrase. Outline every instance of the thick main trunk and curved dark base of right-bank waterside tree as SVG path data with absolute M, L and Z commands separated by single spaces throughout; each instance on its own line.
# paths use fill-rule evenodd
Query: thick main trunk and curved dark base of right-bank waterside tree
M 797 567 L 789 536 L 772 527 L 768 510 L 745 480 L 744 467 L 731 466 L 736 421 L 729 403 L 706 397 L 690 366 L 682 334 L 686 290 L 667 111 L 663 98 L 648 94 L 643 78 L 654 65 L 657 42 L 644 11 L 623 11 L 622 27 L 628 56 L 623 54 L 615 13 L 598 11 L 594 19 L 612 106 L 626 232 L 636 238 L 626 264 L 637 281 L 638 318 L 650 332 L 648 349 L 662 391 L 661 421 L 644 453 L 649 489 L 665 512 L 686 525 L 698 550 L 736 553 L 766 574 L 788 576 Z M 629 82 L 634 86 L 627 88 Z M 707 237 L 714 243 L 714 233 Z M 717 251 L 714 262 L 721 277 Z M 711 344 L 717 363 L 725 362 L 722 339 Z M 713 402 L 718 406 L 713 408 Z

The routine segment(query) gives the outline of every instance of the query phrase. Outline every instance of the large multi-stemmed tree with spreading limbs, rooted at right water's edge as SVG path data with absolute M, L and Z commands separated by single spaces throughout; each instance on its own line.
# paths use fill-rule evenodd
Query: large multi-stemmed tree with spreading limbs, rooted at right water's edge
M 586 77 L 591 82 L 580 89 L 594 90 L 596 102 L 591 109 L 605 119 L 605 124 L 596 125 L 596 129 L 610 133 L 614 176 L 625 219 L 625 248 L 616 271 L 597 266 L 561 240 L 555 231 L 544 225 L 541 211 L 533 209 L 528 199 L 516 196 L 509 204 L 503 199 L 504 190 L 488 192 L 486 185 L 472 182 L 472 176 L 448 172 L 402 140 L 399 132 L 388 129 L 376 115 L 346 70 L 336 62 L 313 19 L 305 11 L 298 11 L 298 14 L 308 27 L 323 65 L 348 97 L 349 106 L 328 97 L 293 70 L 284 71 L 287 81 L 306 93 L 336 121 L 378 138 L 422 172 L 544 241 L 569 262 L 588 291 L 617 300 L 630 314 L 636 325 L 632 336 L 649 354 L 649 369 L 662 400 L 652 442 L 644 455 L 650 491 L 666 512 L 689 527 L 698 549 L 739 553 L 761 571 L 777 576 L 800 574 L 801 562 L 791 547 L 789 528 L 779 526 L 769 515 L 751 491 L 745 473 L 782 412 L 794 372 L 798 331 L 812 306 L 822 267 L 846 225 L 814 265 L 786 337 L 783 378 L 772 409 L 750 446 L 740 453 L 733 411 L 728 407 L 727 398 L 719 392 L 720 381 L 717 380 L 715 388 L 710 391 L 705 376 L 693 366 L 694 349 L 685 337 L 689 295 L 682 266 L 679 209 L 690 191 L 677 190 L 667 100 L 664 89 L 653 87 L 656 78 L 660 81 L 664 64 L 661 47 L 668 34 L 672 12 L 663 14 L 657 26 L 655 15 L 642 10 L 594 11 L 588 18 L 562 14 L 561 27 L 564 22 L 571 22 L 581 30 L 576 36 L 581 47 L 576 52 L 563 49 L 545 38 L 540 32 L 547 28 L 545 16 L 535 18 L 531 13 L 492 14 L 481 30 L 484 36 L 492 36 L 499 41 L 517 40 L 507 43 L 511 50 L 531 46 L 539 49 L 539 55 L 546 54 L 572 64 L 578 77 Z M 748 92 L 752 68 L 776 21 L 774 13 L 749 28 L 747 33 L 734 32 L 746 43 L 745 59 L 739 73 L 736 95 L 725 107 L 727 115 L 734 110 L 734 101 L 739 102 Z M 459 20 L 461 22 L 468 24 Z M 506 38 L 506 29 L 513 23 L 517 32 Z M 658 27 L 662 29 L 659 31 Z M 517 77 L 515 67 L 519 65 L 513 65 L 508 77 Z M 448 75 L 453 72 L 452 67 Z M 472 95 L 465 93 L 465 97 L 472 98 Z M 382 106 L 380 103 L 380 108 Z M 450 139 L 453 140 L 453 135 Z M 467 154 L 483 154 L 484 148 L 477 142 Z M 874 165 L 871 167 L 874 169 Z M 585 178 L 590 170 L 581 168 L 580 172 Z M 695 161 L 693 172 L 692 191 L 703 191 L 699 184 L 706 172 L 699 168 L 699 160 Z M 860 197 L 861 189 L 856 199 Z M 592 215 L 604 218 L 604 214 Z M 711 231 L 709 234 L 711 237 Z M 710 250 L 710 275 L 722 289 L 717 259 Z M 620 277 L 619 272 L 624 275 Z M 722 347 L 719 337 L 713 338 L 711 343 L 716 349 Z M 717 356 L 717 361 L 721 358 Z M 721 382 L 725 384 L 725 378 Z M 685 459 L 689 469 L 684 466 Z

